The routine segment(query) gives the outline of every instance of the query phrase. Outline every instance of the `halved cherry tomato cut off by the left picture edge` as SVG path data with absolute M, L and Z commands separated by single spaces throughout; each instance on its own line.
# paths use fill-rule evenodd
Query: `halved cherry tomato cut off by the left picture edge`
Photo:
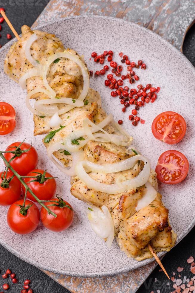
M 0 102 L 0 135 L 13 131 L 16 126 L 16 112 L 14 108 L 5 102 Z

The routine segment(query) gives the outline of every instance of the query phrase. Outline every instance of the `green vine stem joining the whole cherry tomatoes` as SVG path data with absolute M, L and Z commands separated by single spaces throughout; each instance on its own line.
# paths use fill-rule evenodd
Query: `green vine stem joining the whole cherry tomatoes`
M 3 155 L 3 153 L 4 152 L 2 152 L 2 151 L 0 151 L 0 157 L 2 158 L 2 160 L 5 162 L 5 164 L 6 164 L 6 167 L 7 167 L 7 169 L 9 168 L 12 172 L 13 172 L 13 174 L 19 179 L 19 181 L 21 182 L 21 184 L 22 185 L 24 185 L 24 187 L 25 187 L 25 196 L 26 196 L 26 194 L 27 194 L 27 191 L 37 200 L 37 202 L 40 204 L 40 205 L 42 205 L 42 207 L 44 207 L 46 210 L 47 210 L 47 212 L 49 213 L 49 214 L 51 214 L 52 216 L 54 216 L 55 218 L 57 217 L 57 215 L 54 213 L 54 212 L 52 212 L 52 210 L 50 210 L 48 207 L 46 207 L 43 203 L 42 203 L 42 201 L 40 200 L 40 199 L 38 199 L 38 197 L 33 193 L 33 191 L 28 187 L 28 185 L 24 182 L 24 180 L 22 179 L 23 178 L 23 176 L 21 176 L 21 175 L 19 175 L 14 169 L 13 169 L 13 167 L 10 165 L 10 163 L 6 160 L 6 158 L 4 157 L 4 155 Z M 23 206 L 25 205 L 25 200 L 26 200 L 26 197 L 24 196 L 24 204 L 23 204 Z

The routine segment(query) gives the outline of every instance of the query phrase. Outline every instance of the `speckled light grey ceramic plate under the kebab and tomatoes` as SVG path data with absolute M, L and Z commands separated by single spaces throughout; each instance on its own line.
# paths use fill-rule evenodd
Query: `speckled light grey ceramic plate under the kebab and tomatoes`
M 81 16 L 62 19 L 60 22 L 47 24 L 41 30 L 54 33 L 61 38 L 65 47 L 74 48 L 83 54 L 90 70 L 98 65 L 90 60 L 91 52 L 104 50 L 115 52 L 114 60 L 119 62 L 118 53 L 122 51 L 130 60 L 143 59 L 147 70 L 137 69 L 139 83 L 152 83 L 161 90 L 155 103 L 144 106 L 139 116 L 146 120 L 144 125 L 133 127 L 128 119 L 127 109 L 124 114 L 118 98 L 110 96 L 110 90 L 104 86 L 104 77 L 92 78 L 91 87 L 100 92 L 103 108 L 112 113 L 116 120 L 123 119 L 123 126 L 134 137 L 134 145 L 151 160 L 155 168 L 158 157 L 168 149 L 177 149 L 189 160 L 190 169 L 187 178 L 178 185 L 159 184 L 163 201 L 169 208 L 171 226 L 177 233 L 179 242 L 194 226 L 194 97 L 195 71 L 191 63 L 174 47 L 160 36 L 139 25 L 119 19 Z M 0 207 L 0 244 L 21 259 L 39 268 L 61 274 L 80 277 L 94 277 L 127 272 L 145 265 L 152 260 L 137 262 L 129 259 L 120 251 L 116 241 L 111 250 L 91 230 L 86 219 L 85 204 L 70 194 L 69 178 L 62 174 L 47 158 L 41 136 L 33 137 L 33 115 L 25 106 L 26 93 L 19 85 L 10 80 L 3 72 L 3 63 L 9 42 L 0 50 L 0 88 L 1 101 L 6 101 L 16 109 L 16 128 L 10 135 L 0 138 L 0 149 L 14 141 L 27 138 L 32 142 L 39 154 L 38 167 L 47 168 L 58 176 L 57 193 L 63 195 L 75 210 L 73 225 L 61 233 L 52 233 L 43 228 L 41 223 L 33 233 L 21 236 L 13 233 L 7 226 L 8 207 Z M 177 145 L 164 144 L 151 133 L 151 123 L 160 112 L 166 110 L 179 112 L 185 117 L 187 132 Z M 3 164 L 1 170 L 3 170 Z

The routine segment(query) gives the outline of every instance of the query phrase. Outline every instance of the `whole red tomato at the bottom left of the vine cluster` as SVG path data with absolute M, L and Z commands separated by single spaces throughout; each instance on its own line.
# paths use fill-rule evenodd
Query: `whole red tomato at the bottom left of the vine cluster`
M 20 213 L 21 208 L 18 205 L 23 205 L 23 199 L 14 202 L 7 212 L 7 224 L 10 229 L 18 234 L 28 234 L 33 232 L 39 223 L 40 213 L 35 203 L 26 200 L 25 207 L 33 204 L 28 210 L 26 216 Z

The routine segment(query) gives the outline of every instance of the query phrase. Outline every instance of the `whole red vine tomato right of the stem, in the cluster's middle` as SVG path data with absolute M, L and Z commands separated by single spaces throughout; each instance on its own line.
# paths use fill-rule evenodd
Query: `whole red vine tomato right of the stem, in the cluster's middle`
M 47 179 L 46 181 L 44 181 L 43 183 L 40 183 L 41 180 L 41 175 L 35 173 L 44 173 L 44 170 L 41 169 L 34 169 L 32 171 L 30 171 L 27 176 L 38 176 L 38 179 L 35 178 L 24 178 L 24 182 L 28 185 L 28 187 L 30 187 L 30 189 L 33 191 L 33 193 L 38 197 L 38 199 L 41 200 L 49 200 L 51 199 L 55 192 L 56 192 L 56 181 L 55 179 Z M 48 178 L 48 177 L 53 177 L 50 173 L 45 173 L 44 178 Z M 38 181 L 34 181 L 34 182 L 29 182 L 31 180 L 38 180 Z M 44 179 L 43 179 L 44 180 Z M 29 183 L 27 183 L 29 182 Z M 22 186 L 23 191 L 25 193 L 25 187 L 24 185 Z M 27 191 L 27 198 L 32 200 L 33 202 L 37 202 L 37 200 Z

